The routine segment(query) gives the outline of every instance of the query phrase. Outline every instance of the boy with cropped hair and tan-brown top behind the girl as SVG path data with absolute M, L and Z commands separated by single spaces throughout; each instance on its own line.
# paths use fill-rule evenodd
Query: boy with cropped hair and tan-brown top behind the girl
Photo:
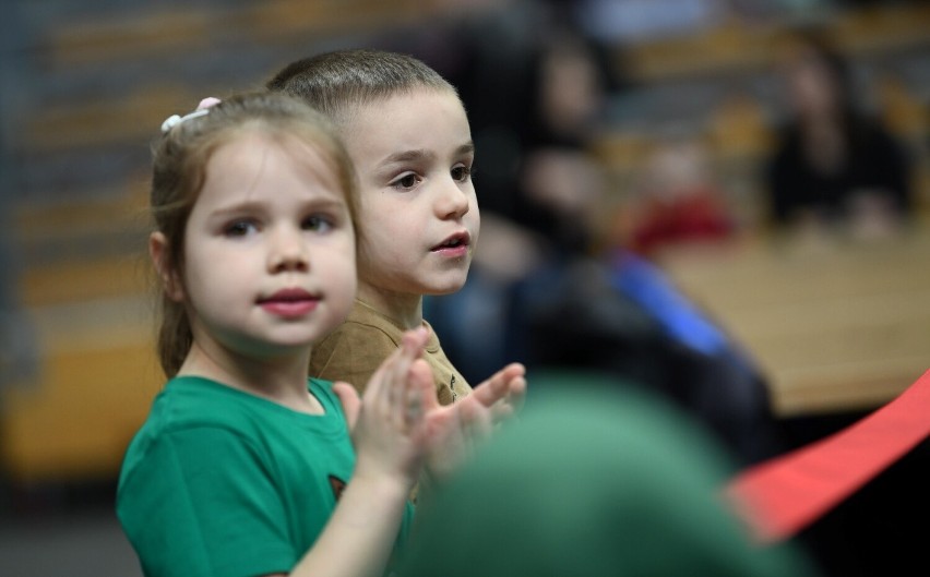
M 474 144 L 455 88 L 413 57 L 363 49 L 296 61 L 267 87 L 334 120 L 359 181 L 357 299 L 346 322 L 314 347 L 310 374 L 361 387 L 404 330 L 425 326 L 440 402 L 467 395 L 470 386 L 422 317 L 424 294 L 465 284 L 479 232 Z

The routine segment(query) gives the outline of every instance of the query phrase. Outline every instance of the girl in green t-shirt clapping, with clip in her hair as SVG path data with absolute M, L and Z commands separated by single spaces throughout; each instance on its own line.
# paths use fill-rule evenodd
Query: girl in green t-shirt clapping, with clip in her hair
M 347 384 L 308 383 L 312 344 L 356 290 L 355 177 L 339 141 L 323 117 L 275 94 L 233 97 L 163 130 L 148 248 L 169 381 L 117 494 L 143 570 L 379 575 L 407 532 L 430 435 L 448 444 L 450 431 L 486 428 L 481 402 L 509 384 L 439 410 L 421 329 L 405 334 L 361 402 Z

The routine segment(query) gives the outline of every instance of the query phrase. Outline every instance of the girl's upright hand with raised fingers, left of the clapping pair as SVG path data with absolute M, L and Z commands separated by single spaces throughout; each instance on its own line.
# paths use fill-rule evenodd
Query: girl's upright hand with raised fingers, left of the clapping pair
M 420 359 L 427 336 L 425 329 L 407 332 L 360 401 L 350 385 L 334 385 L 353 430 L 355 477 L 388 476 L 408 486 L 416 482 L 426 437 L 424 399 L 436 396 L 432 373 Z

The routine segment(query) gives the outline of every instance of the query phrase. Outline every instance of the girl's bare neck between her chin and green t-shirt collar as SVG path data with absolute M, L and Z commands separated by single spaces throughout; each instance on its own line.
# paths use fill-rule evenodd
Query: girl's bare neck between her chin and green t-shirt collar
M 323 407 L 307 389 L 309 360 L 309 350 L 306 354 L 257 359 L 214 342 L 204 346 L 195 338 L 178 375 L 203 376 L 298 412 L 319 414 Z

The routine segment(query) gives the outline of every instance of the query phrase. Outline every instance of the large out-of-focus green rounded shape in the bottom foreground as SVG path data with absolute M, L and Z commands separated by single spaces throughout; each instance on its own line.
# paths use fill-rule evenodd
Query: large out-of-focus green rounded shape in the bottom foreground
M 751 541 L 720 500 L 731 464 L 690 417 L 593 374 L 537 382 L 431 495 L 402 577 L 816 575 L 797 543 Z

